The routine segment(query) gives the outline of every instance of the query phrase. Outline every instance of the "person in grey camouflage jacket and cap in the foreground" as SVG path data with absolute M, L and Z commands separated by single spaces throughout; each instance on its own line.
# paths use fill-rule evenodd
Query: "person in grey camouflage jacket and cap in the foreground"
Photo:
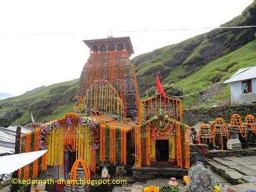
M 212 173 L 205 168 L 204 158 L 196 159 L 196 166 L 189 169 L 188 176 L 184 177 L 186 181 L 185 191 L 189 192 L 218 192 L 220 186 L 217 185 Z

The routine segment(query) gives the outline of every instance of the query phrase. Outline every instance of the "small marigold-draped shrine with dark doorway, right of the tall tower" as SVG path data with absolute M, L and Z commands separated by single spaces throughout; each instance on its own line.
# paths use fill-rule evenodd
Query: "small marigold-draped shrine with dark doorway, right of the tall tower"
M 182 123 L 182 101 L 156 92 L 141 101 L 142 122 L 135 129 L 136 166 L 189 168 L 190 127 Z

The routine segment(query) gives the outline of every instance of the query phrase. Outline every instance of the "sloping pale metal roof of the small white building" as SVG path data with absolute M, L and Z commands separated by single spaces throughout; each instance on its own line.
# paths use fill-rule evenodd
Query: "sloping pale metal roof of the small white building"
M 243 81 L 246 79 L 253 79 L 253 78 L 256 78 L 256 66 L 241 68 L 237 70 L 237 72 L 233 76 L 231 76 L 229 79 L 224 81 L 224 83 L 231 83 L 234 81 Z

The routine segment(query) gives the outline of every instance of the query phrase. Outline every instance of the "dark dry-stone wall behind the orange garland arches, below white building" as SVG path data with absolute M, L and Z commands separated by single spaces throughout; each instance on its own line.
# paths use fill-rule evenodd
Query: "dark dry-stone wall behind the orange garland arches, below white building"
M 230 122 L 230 117 L 234 113 L 239 113 L 243 120 L 246 115 L 256 115 L 256 105 L 253 106 L 223 106 L 209 109 L 185 109 L 183 111 L 183 122 L 190 126 L 198 122 L 212 122 L 215 118 L 222 117 L 226 123 Z

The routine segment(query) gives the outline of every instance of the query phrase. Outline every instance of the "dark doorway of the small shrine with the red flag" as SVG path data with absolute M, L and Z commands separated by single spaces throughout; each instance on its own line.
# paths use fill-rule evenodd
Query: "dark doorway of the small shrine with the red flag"
M 156 140 L 156 160 L 168 161 L 169 159 L 169 140 Z

